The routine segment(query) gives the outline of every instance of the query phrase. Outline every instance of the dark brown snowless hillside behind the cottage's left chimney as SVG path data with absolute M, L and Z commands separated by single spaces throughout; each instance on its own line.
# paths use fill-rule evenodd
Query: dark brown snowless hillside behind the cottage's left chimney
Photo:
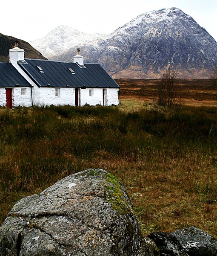
M 29 43 L 12 36 L 0 33 L 0 61 L 9 61 L 9 49 L 14 48 L 14 42 L 19 41 L 19 48 L 24 49 L 25 58 L 46 59 L 40 52 L 34 49 Z

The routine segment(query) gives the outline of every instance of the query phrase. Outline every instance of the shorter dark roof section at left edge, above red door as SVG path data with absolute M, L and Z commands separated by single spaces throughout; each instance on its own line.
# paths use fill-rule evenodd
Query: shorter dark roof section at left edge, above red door
M 0 62 L 0 87 L 29 87 L 29 82 L 9 62 Z

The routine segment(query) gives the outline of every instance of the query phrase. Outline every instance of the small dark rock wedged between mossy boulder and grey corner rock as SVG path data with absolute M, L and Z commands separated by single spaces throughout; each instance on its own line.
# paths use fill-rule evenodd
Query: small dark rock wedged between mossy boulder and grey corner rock
M 170 233 L 154 232 L 148 237 L 157 245 L 160 256 L 188 256 L 178 239 Z

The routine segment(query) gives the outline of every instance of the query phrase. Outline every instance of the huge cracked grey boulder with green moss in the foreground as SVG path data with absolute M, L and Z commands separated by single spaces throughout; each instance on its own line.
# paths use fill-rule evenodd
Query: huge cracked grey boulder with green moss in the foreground
M 123 185 L 102 169 L 18 201 L 0 227 L 1 256 L 155 256 Z

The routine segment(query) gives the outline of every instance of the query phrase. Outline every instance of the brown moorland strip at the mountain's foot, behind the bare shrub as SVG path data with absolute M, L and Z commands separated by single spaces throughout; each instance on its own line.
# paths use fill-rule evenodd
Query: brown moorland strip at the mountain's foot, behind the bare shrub
M 115 79 L 121 87 L 123 100 L 151 102 L 157 99 L 156 79 Z M 209 79 L 177 79 L 182 103 L 185 105 L 216 105 L 217 90 Z

